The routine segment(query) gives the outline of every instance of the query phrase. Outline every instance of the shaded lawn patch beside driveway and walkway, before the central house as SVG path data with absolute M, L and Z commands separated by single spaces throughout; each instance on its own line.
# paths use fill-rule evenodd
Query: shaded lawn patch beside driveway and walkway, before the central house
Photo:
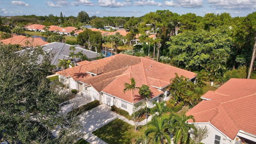
M 92 132 L 92 134 L 108 144 L 131 144 L 133 138 L 144 136 L 146 126 L 142 126 L 137 132 L 133 128 L 134 126 L 117 118 Z

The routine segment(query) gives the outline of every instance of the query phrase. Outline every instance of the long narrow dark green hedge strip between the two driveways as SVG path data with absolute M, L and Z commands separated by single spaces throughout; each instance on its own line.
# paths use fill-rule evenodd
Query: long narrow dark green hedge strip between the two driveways
M 68 112 L 68 116 L 69 117 L 78 116 L 79 114 L 82 114 L 83 112 L 91 110 L 92 108 L 95 108 L 96 106 L 99 106 L 99 105 L 100 105 L 100 101 L 94 100 L 93 102 L 89 102 L 84 106 L 71 110 L 70 112 Z

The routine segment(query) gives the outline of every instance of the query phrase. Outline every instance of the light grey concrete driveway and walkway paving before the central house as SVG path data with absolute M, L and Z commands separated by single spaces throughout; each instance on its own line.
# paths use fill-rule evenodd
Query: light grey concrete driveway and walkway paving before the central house
M 63 106 L 61 108 L 61 112 L 63 114 L 67 114 L 73 108 L 78 108 L 91 101 L 92 100 L 88 100 L 84 98 L 80 93 L 78 93 L 75 98 L 64 102 L 64 104 L 67 103 L 66 105 L 62 104 Z M 88 110 L 87 112 L 80 114 L 78 118 L 80 124 L 84 128 L 84 131 L 82 131 L 82 133 L 84 133 L 85 135 L 82 138 L 90 144 L 107 144 L 106 142 L 92 134 L 92 132 L 112 122 L 116 118 L 119 118 L 120 120 L 123 120 L 124 122 L 127 122 L 128 124 L 134 126 L 134 122 L 132 120 L 128 120 L 124 116 L 112 112 L 111 107 L 106 104 L 101 104 L 100 106 L 97 106 L 92 110 Z M 148 117 L 148 122 L 151 120 L 151 118 L 152 116 Z M 142 120 L 142 122 L 139 122 L 138 125 L 143 126 L 145 124 L 146 119 Z M 53 133 L 55 135 L 58 134 L 58 130 L 55 130 Z

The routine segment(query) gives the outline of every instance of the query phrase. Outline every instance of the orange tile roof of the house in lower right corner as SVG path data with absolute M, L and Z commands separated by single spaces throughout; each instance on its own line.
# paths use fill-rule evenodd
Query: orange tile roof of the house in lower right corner
M 204 94 L 202 97 L 211 100 L 203 100 L 186 114 L 193 115 L 196 122 L 210 122 L 231 139 L 239 130 L 256 135 L 255 85 L 253 79 L 232 78 L 215 94 Z

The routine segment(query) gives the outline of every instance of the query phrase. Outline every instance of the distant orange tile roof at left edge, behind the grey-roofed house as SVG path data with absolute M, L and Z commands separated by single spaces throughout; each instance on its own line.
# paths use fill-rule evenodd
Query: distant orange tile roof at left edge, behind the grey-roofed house
M 28 38 L 26 36 L 15 36 L 13 38 L 1 40 L 1 42 L 3 42 L 3 44 L 20 44 L 21 47 L 31 47 L 31 43 L 33 47 L 49 44 L 49 42 L 44 42 L 41 38 Z M 28 42 L 30 44 L 28 44 Z

